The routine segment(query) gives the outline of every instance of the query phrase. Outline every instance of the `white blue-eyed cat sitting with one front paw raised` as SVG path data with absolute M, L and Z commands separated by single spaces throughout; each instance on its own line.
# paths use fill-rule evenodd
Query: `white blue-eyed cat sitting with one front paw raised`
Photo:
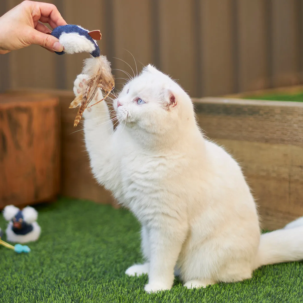
M 75 80 L 76 96 L 86 78 Z M 92 102 L 101 98 L 99 90 Z M 115 132 L 104 101 L 85 110 L 85 143 L 95 178 L 142 224 L 146 263 L 126 274 L 147 273 L 146 291 L 170 289 L 174 270 L 186 287 L 205 287 L 303 259 L 303 221 L 260 236 L 241 168 L 203 137 L 176 82 L 148 65 L 114 107 L 121 122 Z

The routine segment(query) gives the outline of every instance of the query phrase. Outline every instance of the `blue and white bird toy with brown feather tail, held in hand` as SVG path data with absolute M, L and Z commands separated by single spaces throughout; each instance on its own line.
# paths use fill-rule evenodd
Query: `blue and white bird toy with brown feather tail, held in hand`
M 50 34 L 58 38 L 59 42 L 64 47 L 62 52 L 55 52 L 58 55 L 80 52 L 88 52 L 91 54 L 91 58 L 85 60 L 83 68 L 83 73 L 88 75 L 89 78 L 86 81 L 85 87 L 82 89 L 82 94 L 76 97 L 69 106 L 69 108 L 80 106 L 74 121 L 74 127 L 76 127 L 82 118 L 85 108 L 88 108 L 88 105 L 94 98 L 98 88 L 101 88 L 106 92 L 106 96 L 102 99 L 104 100 L 113 90 L 115 80 L 112 75 L 110 63 L 106 56 L 100 54 L 100 49 L 96 42 L 96 40 L 101 40 L 101 33 L 99 30 L 89 32 L 79 25 L 68 24 L 54 28 Z M 101 102 L 102 100 L 98 102 Z M 90 105 L 89 107 L 93 105 Z

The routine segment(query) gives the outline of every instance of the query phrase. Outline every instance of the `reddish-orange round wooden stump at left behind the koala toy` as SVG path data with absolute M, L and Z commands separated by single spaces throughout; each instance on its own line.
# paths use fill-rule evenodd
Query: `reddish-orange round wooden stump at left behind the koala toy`
M 58 195 L 58 107 L 47 95 L 0 95 L 0 208 Z

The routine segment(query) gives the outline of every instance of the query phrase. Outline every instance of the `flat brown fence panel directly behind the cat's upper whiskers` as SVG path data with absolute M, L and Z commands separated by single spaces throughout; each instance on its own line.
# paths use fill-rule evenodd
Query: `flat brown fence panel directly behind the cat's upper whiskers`
M 149 1 L 133 0 L 113 1 L 114 10 L 114 38 L 115 53 L 113 57 L 127 62 L 136 74 L 136 67 L 132 55 L 137 62 L 138 72 L 142 65 L 152 63 L 152 28 L 151 28 L 151 7 Z M 129 54 L 126 50 L 132 53 Z M 112 59 L 115 68 L 125 70 L 133 76 L 132 69 L 119 59 Z M 140 63 L 141 62 L 141 63 Z M 121 72 L 114 70 L 116 78 L 128 78 Z M 116 88 L 122 86 L 123 79 L 116 80 Z M 119 84 L 121 83 L 121 84 Z

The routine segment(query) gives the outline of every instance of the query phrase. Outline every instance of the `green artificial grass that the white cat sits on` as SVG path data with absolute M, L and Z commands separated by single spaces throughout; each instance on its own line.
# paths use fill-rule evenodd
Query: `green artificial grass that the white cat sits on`
M 18 255 L 0 247 L 0 302 L 302 302 L 303 263 L 264 266 L 252 279 L 188 290 L 145 293 L 147 276 L 125 270 L 142 261 L 139 224 L 128 211 L 60 199 L 40 205 L 41 237 Z M 3 218 L 0 226 L 5 228 Z M 5 237 L 4 237 L 5 239 Z M 203 256 L 201 256 L 203 258 Z

